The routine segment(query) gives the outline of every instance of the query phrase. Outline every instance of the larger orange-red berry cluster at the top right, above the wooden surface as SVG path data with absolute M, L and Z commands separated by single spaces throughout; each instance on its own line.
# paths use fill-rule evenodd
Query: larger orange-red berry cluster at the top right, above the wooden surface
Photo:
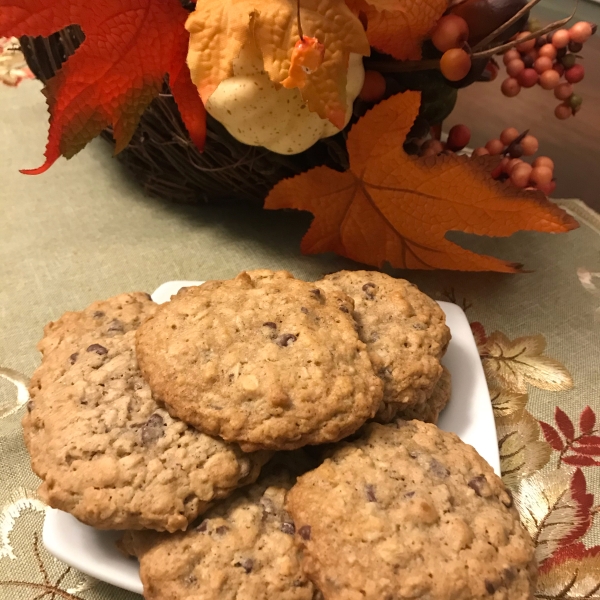
M 562 120 L 575 115 L 583 99 L 573 92 L 573 84 L 585 76 L 583 65 L 577 62 L 581 58 L 578 53 L 596 29 L 596 25 L 580 21 L 570 29 L 557 29 L 508 50 L 504 54 L 508 78 L 502 82 L 502 93 L 512 98 L 522 88 L 539 85 L 545 90 L 554 90 L 554 96 L 561 100 L 554 111 L 557 118 Z M 519 33 L 515 41 L 527 35 Z

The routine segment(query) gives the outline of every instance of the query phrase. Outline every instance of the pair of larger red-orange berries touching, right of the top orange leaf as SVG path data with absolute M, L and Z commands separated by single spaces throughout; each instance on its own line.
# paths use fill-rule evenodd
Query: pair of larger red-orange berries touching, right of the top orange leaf
M 442 52 L 440 71 L 448 81 L 460 81 L 471 70 L 471 54 L 465 50 L 469 25 L 458 15 L 442 17 L 431 33 L 431 42 Z

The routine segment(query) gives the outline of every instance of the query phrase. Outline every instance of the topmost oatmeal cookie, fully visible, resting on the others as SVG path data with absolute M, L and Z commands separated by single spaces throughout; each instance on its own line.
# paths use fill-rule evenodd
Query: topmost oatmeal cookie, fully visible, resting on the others
M 341 292 L 242 273 L 161 306 L 138 330 L 137 356 L 172 414 L 243 450 L 333 442 L 382 395 L 351 311 Z

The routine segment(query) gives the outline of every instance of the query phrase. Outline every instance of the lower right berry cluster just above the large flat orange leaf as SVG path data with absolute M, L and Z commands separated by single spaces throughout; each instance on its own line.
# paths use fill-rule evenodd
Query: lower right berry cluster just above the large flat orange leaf
M 490 140 L 484 147 L 476 148 L 473 156 L 503 156 L 492 172 L 494 179 L 510 181 L 520 189 L 536 188 L 550 195 L 556 189 L 552 159 L 538 156 L 532 164 L 521 160 L 523 156 L 533 156 L 538 148 L 539 143 L 534 136 L 510 127 L 500 134 L 500 139 Z

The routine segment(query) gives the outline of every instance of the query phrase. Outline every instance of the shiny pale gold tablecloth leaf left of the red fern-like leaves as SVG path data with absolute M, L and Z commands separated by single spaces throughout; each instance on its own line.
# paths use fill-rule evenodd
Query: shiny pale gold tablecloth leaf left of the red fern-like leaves
M 566 469 L 535 473 L 521 482 L 514 495 L 521 522 L 536 544 L 538 563 L 589 527 L 589 510 L 574 491 L 574 476 Z

